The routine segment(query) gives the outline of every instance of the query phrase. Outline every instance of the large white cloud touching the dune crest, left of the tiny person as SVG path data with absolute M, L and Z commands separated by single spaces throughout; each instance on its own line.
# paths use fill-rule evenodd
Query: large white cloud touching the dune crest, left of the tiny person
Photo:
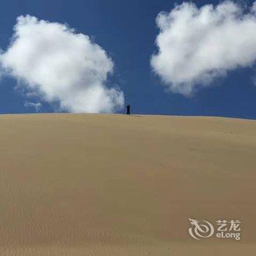
M 85 34 L 60 24 L 18 17 L 12 42 L 1 54 L 4 72 L 48 102 L 70 112 L 113 112 L 124 94 L 108 88 L 113 61 Z

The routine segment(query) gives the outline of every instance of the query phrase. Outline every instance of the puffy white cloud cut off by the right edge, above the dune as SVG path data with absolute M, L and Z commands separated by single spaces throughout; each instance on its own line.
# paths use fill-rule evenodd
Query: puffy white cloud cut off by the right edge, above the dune
M 183 3 L 157 17 L 158 52 L 151 67 L 173 92 L 193 94 L 228 70 L 256 60 L 256 2 L 247 11 L 233 1 L 197 8 Z

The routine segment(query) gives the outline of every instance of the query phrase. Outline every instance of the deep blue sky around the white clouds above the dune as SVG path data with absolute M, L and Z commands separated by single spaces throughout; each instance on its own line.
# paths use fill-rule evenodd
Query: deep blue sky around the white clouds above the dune
M 194 1 L 198 7 L 219 1 Z M 252 4 L 253 1 L 247 1 Z M 181 1 L 176 1 L 181 4 Z M 253 68 L 239 68 L 217 78 L 192 97 L 167 92 L 152 72 L 150 59 L 157 52 L 154 43 L 159 29 L 155 19 L 161 11 L 169 12 L 174 1 L 150 0 L 2 0 L 0 4 L 0 48 L 7 49 L 16 18 L 33 15 L 50 22 L 67 23 L 87 34 L 108 53 L 114 72 L 108 83 L 124 91 L 125 103 L 133 113 L 227 116 L 256 118 L 256 86 L 252 83 Z M 241 35 L 242 37 L 242 35 Z M 1 79 L 0 113 L 34 113 L 24 106 L 24 96 L 15 89 L 17 80 Z M 53 112 L 53 105 L 42 101 L 42 112 Z M 124 110 L 118 111 L 119 113 Z

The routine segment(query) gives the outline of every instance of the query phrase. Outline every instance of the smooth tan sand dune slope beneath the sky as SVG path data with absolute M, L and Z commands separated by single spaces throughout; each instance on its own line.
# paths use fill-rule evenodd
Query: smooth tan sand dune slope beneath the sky
M 0 255 L 254 255 L 256 121 L 0 116 Z M 241 241 L 188 218 L 241 219 Z

